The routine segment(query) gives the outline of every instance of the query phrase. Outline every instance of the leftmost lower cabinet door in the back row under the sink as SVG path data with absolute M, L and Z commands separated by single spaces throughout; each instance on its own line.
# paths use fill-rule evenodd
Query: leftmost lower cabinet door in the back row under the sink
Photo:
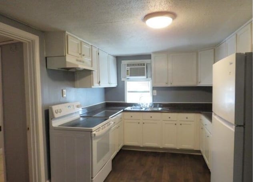
M 124 145 L 140 146 L 142 140 L 142 123 L 140 120 L 124 121 Z

